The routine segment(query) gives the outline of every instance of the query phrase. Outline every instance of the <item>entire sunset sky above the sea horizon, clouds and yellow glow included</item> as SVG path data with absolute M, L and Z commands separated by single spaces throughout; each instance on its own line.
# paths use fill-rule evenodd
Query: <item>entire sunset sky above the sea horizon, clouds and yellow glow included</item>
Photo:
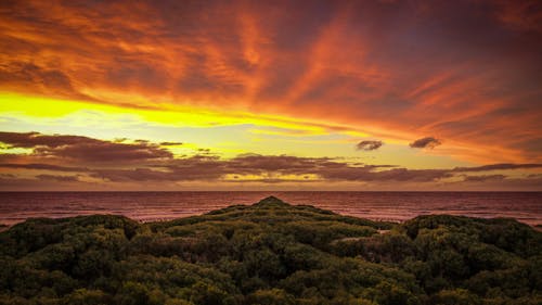
M 0 3 L 0 190 L 542 191 L 542 2 Z

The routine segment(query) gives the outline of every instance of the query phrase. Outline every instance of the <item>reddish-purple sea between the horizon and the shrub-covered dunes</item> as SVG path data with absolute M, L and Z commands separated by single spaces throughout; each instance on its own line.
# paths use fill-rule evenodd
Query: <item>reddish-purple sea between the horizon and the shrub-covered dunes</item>
M 0 192 L 0 224 L 90 214 L 153 221 L 253 204 L 269 195 L 376 220 L 452 214 L 542 225 L 542 192 Z

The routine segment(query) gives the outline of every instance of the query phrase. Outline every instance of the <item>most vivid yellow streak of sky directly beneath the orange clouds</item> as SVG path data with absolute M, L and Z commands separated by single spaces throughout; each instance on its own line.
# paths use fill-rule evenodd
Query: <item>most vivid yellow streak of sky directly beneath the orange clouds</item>
M 346 129 L 343 126 L 328 126 L 320 122 L 307 122 L 286 116 L 253 114 L 242 111 L 216 111 L 202 106 L 172 103 L 158 103 L 159 107 L 152 109 L 152 103 L 142 103 L 141 97 L 134 99 L 143 107 L 0 92 L 0 113 L 10 114 L 11 116 L 26 115 L 37 118 L 61 118 L 80 111 L 92 111 L 106 115 L 129 114 L 146 123 L 176 127 L 253 124 L 273 127 L 275 130 L 269 132 L 280 135 L 326 135 L 333 129 L 344 129 L 345 132 L 350 135 L 367 137 L 366 134 L 361 131 Z

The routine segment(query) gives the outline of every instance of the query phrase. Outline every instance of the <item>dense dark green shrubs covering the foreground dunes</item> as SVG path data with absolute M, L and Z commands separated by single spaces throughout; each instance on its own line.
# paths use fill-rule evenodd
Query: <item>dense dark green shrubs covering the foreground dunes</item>
M 542 304 L 542 233 L 401 225 L 268 198 L 203 216 L 29 219 L 0 233 L 0 304 Z

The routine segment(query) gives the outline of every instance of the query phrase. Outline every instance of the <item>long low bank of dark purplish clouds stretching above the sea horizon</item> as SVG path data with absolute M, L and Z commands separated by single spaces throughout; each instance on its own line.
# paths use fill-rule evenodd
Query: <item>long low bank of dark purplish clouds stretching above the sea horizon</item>
M 159 145 L 146 140 L 127 139 L 104 141 L 80 136 L 47 136 L 38 132 L 0 132 L 0 140 L 12 148 L 34 149 L 31 154 L 10 154 L 2 157 L 0 168 L 8 170 L 42 170 L 35 176 L 39 181 L 87 183 L 82 177 L 106 182 L 152 181 L 176 183 L 182 181 L 242 181 L 260 183 L 354 181 L 354 182 L 440 182 L 462 178 L 463 182 L 494 182 L 509 180 L 505 175 L 473 175 L 489 170 L 542 168 L 542 164 L 490 164 L 451 169 L 409 169 L 391 165 L 347 163 L 331 157 L 301 157 L 293 155 L 240 154 L 221 158 L 204 151 L 192 156 L 173 156 Z M 66 166 L 65 160 L 85 166 Z M 36 162 L 39 161 L 39 162 Z M 96 162 L 100 161 L 100 162 Z M 105 162 L 107 161 L 107 162 Z M 47 171 L 54 171 L 50 175 Z M 62 175 L 77 173 L 77 175 Z M 56 175 L 57 174 L 57 175 Z M 2 176 L 3 179 L 10 177 Z M 537 177 L 534 177 L 537 178 Z M 15 179 L 15 178 L 13 178 Z M 36 186 L 29 182 L 29 186 Z M 22 179 L 21 181 L 28 179 Z M 30 179 L 33 180 L 33 179 Z M 82 181 L 81 181 L 82 180 Z M 102 183 L 103 185 L 103 183 Z

